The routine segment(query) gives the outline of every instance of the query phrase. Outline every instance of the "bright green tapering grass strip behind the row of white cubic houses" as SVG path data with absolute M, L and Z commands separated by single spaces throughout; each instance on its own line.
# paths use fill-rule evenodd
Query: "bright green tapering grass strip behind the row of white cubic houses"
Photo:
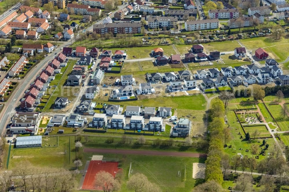
M 99 102 L 99 100 L 93 100 Z M 105 101 L 106 102 L 106 101 Z M 179 97 L 157 97 L 154 99 L 142 99 L 137 101 L 108 102 L 110 104 L 126 106 L 151 106 L 172 107 L 177 109 L 204 110 L 206 101 L 203 95 L 179 96 Z

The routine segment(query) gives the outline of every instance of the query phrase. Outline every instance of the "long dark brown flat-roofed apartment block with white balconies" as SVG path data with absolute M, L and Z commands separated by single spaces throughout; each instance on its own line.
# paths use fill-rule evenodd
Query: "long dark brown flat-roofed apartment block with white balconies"
M 141 33 L 141 22 L 114 22 L 93 25 L 93 31 L 97 34 L 114 33 Z

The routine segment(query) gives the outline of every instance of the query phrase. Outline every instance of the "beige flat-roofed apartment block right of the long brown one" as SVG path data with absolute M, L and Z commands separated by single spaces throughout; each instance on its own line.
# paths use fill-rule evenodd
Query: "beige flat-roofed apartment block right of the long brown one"
M 150 17 L 148 19 L 149 28 L 158 28 L 158 27 L 176 27 L 178 22 L 177 17 Z

